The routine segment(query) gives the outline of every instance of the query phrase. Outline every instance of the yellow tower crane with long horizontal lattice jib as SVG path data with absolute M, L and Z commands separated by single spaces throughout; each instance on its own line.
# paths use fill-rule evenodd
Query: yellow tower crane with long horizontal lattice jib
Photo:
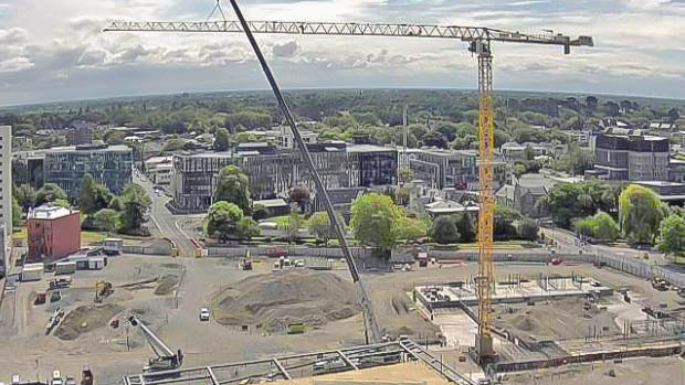
M 217 8 L 215 8 L 217 9 Z M 214 10 L 215 10 L 214 9 Z M 213 12 L 213 11 L 212 11 Z M 223 13 L 222 13 L 223 14 Z M 479 203 L 478 247 L 479 264 L 476 277 L 478 296 L 478 334 L 476 354 L 482 362 L 494 357 L 491 330 L 492 298 L 495 285 L 493 266 L 493 229 L 495 197 L 493 191 L 494 159 L 494 108 L 493 108 L 493 56 L 492 42 L 561 45 L 569 54 L 571 46 L 594 46 L 591 36 L 571 39 L 549 31 L 541 34 L 509 32 L 481 26 L 398 24 L 398 23 L 356 23 L 356 22 L 293 22 L 293 21 L 247 21 L 252 33 L 298 34 L 298 35 L 344 35 L 344 36 L 392 36 L 420 39 L 453 39 L 470 44 L 468 51 L 478 57 L 479 92 Z M 112 21 L 104 31 L 128 32 L 182 32 L 182 33 L 244 33 L 240 21 Z

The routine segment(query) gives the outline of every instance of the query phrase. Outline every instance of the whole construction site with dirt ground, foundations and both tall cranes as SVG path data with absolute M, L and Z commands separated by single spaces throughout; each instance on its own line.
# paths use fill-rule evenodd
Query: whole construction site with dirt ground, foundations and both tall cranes
M 413 24 L 113 22 L 110 32 L 246 34 L 324 196 L 342 258 L 122 255 L 96 270 L 10 285 L 0 373 L 54 368 L 97 384 L 642 384 L 681 374 L 685 300 L 667 281 L 581 261 L 494 263 L 491 43 L 592 38 Z M 218 3 L 219 7 L 219 3 Z M 221 9 L 219 9 L 221 11 Z M 221 11 L 223 14 L 223 11 Z M 477 263 L 367 270 L 252 33 L 454 39 L 477 56 Z M 201 254 L 200 254 L 201 256 Z M 324 259 L 325 261 L 322 261 Z M 381 261 L 382 263 L 382 261 Z M 326 268 L 322 268 L 325 266 Z M 29 271 L 29 270 L 27 270 Z M 658 370 L 654 370 L 658 367 Z

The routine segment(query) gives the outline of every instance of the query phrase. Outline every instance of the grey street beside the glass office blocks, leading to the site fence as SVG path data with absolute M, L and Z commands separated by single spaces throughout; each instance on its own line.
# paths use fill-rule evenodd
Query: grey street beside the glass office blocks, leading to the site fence
M 190 237 L 178 225 L 178 218 L 171 214 L 166 204 L 171 199 L 166 194 L 156 194 L 152 182 L 141 173 L 134 173 L 134 181 L 140 184 L 152 200 L 150 210 L 150 232 L 154 236 L 166 237 L 176 242 L 181 257 L 194 256 L 194 246 Z

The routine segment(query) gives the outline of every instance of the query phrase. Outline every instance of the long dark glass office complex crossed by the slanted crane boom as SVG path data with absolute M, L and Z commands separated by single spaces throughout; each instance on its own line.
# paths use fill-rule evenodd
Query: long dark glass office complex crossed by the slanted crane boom
M 307 148 L 326 189 L 397 183 L 398 153 L 394 149 L 345 142 L 308 143 Z M 213 203 L 219 172 L 228 164 L 238 165 L 247 175 L 250 193 L 255 200 L 274 199 L 295 185 L 306 185 L 316 192 L 299 151 L 245 143 L 234 154 L 176 156 L 172 206 L 185 212 L 207 210 Z

